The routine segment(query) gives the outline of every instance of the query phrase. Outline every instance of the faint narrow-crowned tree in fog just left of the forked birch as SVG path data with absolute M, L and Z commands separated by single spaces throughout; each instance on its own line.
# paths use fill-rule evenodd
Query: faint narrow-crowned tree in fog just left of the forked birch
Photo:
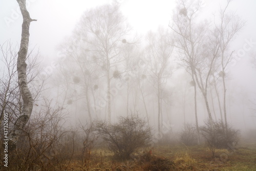
M 153 87 L 157 91 L 158 131 L 161 131 L 162 125 L 162 93 L 167 78 L 172 75 L 170 58 L 173 47 L 168 45 L 168 41 L 168 32 L 164 29 L 159 29 L 157 33 L 150 32 L 148 34 L 147 60 L 150 65 Z

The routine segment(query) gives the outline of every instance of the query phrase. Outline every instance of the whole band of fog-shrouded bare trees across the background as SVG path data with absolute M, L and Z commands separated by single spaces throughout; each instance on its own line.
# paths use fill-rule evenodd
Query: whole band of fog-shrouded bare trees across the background
M 255 42 L 246 39 L 243 47 L 233 48 L 246 22 L 229 9 L 231 3 L 204 18 L 200 3 L 177 1 L 169 23 L 144 35 L 132 29 L 118 3 L 85 11 L 50 62 L 42 62 L 39 47 L 29 47 L 33 112 L 28 126 L 54 122 L 72 130 L 137 114 L 169 137 L 186 123 L 198 129 L 208 119 L 255 130 L 255 92 L 236 79 L 243 73 L 237 71 L 241 58 L 248 59 L 252 72 L 244 77 L 254 77 Z M 8 113 L 10 125 L 23 106 L 17 47 L 12 40 L 0 47 L 1 120 Z

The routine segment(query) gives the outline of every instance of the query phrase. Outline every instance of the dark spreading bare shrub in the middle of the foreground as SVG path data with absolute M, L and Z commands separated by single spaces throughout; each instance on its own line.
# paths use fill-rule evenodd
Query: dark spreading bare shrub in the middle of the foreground
M 138 115 L 120 117 L 115 124 L 99 121 L 96 130 L 115 157 L 121 159 L 129 159 L 130 154 L 149 145 L 152 139 L 151 128 Z

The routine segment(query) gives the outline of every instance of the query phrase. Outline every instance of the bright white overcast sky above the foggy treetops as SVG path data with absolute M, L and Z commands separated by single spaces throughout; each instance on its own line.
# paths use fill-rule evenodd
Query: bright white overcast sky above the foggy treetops
M 0 43 L 7 39 L 19 42 L 22 16 L 19 13 L 18 4 L 15 0 L 0 0 L 0 2 Z M 56 53 L 54 51 L 56 46 L 71 34 L 83 11 L 111 2 L 111 0 L 27 0 L 31 18 L 38 19 L 30 27 L 30 45 L 37 45 L 44 57 L 53 56 Z M 159 25 L 167 27 L 175 7 L 175 0 L 119 0 L 119 2 L 130 25 L 135 31 L 142 34 L 148 30 L 157 29 Z M 205 0 L 204 15 L 202 16 L 212 16 L 220 6 L 220 2 L 225 1 Z M 236 48 L 240 48 L 244 44 L 243 39 L 253 38 L 256 40 L 256 1 L 234 0 L 230 7 L 237 10 L 237 13 L 247 21 L 236 44 Z

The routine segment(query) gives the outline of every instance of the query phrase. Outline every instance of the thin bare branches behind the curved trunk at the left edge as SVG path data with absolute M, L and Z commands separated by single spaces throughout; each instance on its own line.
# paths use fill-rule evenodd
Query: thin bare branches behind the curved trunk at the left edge
M 17 76 L 17 47 L 12 45 L 8 40 L 4 44 L 0 44 L 0 62 L 3 64 L 0 69 L 0 128 L 2 129 L 2 121 L 4 113 L 8 113 L 9 129 L 13 127 L 13 123 L 21 115 L 23 108 L 23 100 L 18 87 Z M 33 95 L 34 101 L 37 101 L 41 91 L 44 89 L 45 79 L 40 79 L 40 87 L 36 86 L 35 77 L 38 75 L 40 56 L 35 48 L 28 51 L 27 62 L 27 82 L 29 89 Z

